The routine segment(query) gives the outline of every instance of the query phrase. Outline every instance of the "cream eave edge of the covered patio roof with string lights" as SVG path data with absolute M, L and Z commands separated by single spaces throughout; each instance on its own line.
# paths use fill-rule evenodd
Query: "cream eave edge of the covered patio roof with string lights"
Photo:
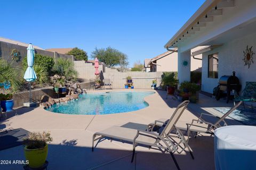
M 213 20 L 213 15 L 221 15 L 222 11 L 212 12 L 215 6 L 228 7 L 234 6 L 234 1 L 223 1 L 223 0 L 206 0 L 204 4 L 198 8 L 198 10 L 191 16 L 191 18 L 180 28 L 180 30 L 175 33 L 175 35 L 165 44 L 165 48 L 178 47 L 177 43 L 181 38 L 189 37 L 193 32 L 198 31 L 199 27 L 205 27 L 205 22 L 211 22 Z M 208 14 L 207 19 L 206 14 Z M 194 28 L 194 30 L 193 30 Z

